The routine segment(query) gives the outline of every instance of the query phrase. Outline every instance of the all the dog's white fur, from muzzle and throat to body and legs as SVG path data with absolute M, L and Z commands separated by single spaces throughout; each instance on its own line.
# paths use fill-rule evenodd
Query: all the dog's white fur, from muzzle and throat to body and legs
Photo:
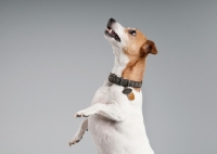
M 129 59 L 123 52 L 128 40 L 124 27 L 112 27 L 120 42 L 105 36 L 113 47 L 115 63 L 112 73 L 122 76 Z M 69 144 L 78 142 L 85 130 L 90 130 L 99 154 L 154 154 L 146 137 L 142 116 L 142 92 L 133 90 L 135 100 L 123 94 L 123 87 L 105 81 L 95 92 L 91 106 L 76 116 L 87 116 Z

